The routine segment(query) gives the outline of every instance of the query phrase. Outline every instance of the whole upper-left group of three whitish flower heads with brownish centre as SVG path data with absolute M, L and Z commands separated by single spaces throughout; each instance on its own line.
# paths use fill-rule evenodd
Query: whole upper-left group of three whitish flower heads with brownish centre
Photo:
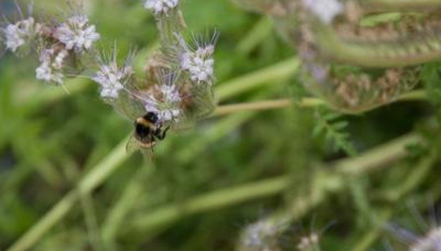
M 23 16 L 20 8 L 19 12 Z M 89 25 L 89 19 L 81 14 L 72 15 L 62 24 L 37 23 L 29 17 L 16 23 L 7 21 L 0 27 L 0 42 L 7 50 L 17 55 L 36 51 L 40 61 L 35 70 L 37 80 L 58 84 L 63 83 L 67 63 L 73 67 L 82 65 L 84 52 L 92 49 L 98 39 L 95 26 Z

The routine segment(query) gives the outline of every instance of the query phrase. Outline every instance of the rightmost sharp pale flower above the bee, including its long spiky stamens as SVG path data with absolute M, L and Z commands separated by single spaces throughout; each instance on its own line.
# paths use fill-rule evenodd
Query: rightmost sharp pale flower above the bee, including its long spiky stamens
M 188 45 L 184 38 L 178 36 L 178 41 L 182 47 L 182 53 L 179 56 L 180 66 L 183 70 L 190 73 L 192 81 L 201 84 L 212 84 L 213 66 L 214 66 L 214 47 L 218 33 L 215 32 L 210 42 L 203 42 L 202 39 L 194 39 L 194 46 Z

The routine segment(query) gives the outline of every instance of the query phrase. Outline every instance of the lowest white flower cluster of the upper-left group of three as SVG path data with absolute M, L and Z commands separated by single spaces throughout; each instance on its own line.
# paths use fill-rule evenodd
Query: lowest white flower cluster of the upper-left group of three
M 36 78 L 46 82 L 63 83 L 62 68 L 64 59 L 69 55 L 66 50 L 56 52 L 54 49 L 44 49 L 40 53 L 41 65 L 35 70 Z

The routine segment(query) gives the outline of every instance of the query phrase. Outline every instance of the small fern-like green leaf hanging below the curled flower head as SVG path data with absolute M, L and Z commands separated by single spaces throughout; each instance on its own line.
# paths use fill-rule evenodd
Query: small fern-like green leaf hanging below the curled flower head
M 357 155 L 350 135 L 345 131 L 348 122 L 342 119 L 342 114 L 331 111 L 324 106 L 319 106 L 316 110 L 316 124 L 313 130 L 313 137 L 324 135 L 327 142 L 331 142 L 335 151 L 342 150 L 347 155 Z

